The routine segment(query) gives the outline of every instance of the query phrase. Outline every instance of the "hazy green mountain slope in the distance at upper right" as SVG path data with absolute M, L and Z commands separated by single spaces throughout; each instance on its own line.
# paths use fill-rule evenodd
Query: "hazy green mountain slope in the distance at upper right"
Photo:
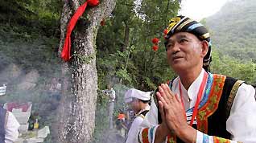
M 217 14 L 206 18 L 213 47 L 238 59 L 256 59 L 256 2 L 233 0 Z

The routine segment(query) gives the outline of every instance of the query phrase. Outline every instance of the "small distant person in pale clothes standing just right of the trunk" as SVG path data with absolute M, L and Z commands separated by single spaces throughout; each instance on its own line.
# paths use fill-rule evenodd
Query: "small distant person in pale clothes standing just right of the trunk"
M 106 89 L 102 90 L 102 92 L 106 96 L 109 96 L 109 129 L 113 129 L 114 100 L 116 98 L 116 92 L 114 91 L 114 88 L 112 88 L 111 84 L 108 84 Z

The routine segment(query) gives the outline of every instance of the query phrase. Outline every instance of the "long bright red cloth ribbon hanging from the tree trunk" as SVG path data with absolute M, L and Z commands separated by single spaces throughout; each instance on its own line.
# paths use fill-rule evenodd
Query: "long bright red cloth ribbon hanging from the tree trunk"
M 68 27 L 67 27 L 66 39 L 64 42 L 63 49 L 61 51 L 61 58 L 64 59 L 64 61 L 68 61 L 70 59 L 70 51 L 71 51 L 70 35 L 72 33 L 72 30 L 76 26 L 76 22 L 77 22 L 78 18 L 80 18 L 81 15 L 84 14 L 87 4 L 89 6 L 97 6 L 99 4 L 99 1 L 98 0 L 87 0 L 83 5 L 78 7 L 78 9 L 76 10 L 76 13 L 70 19 L 70 22 L 68 23 Z

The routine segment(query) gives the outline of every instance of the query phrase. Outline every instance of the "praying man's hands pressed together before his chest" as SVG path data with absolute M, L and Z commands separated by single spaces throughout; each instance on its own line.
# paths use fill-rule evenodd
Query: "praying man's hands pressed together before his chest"
M 174 133 L 185 142 L 193 142 L 196 129 L 192 129 L 187 123 L 181 97 L 171 92 L 167 84 L 161 84 L 156 95 L 159 100 L 159 111 L 162 117 L 160 126 L 163 132 Z

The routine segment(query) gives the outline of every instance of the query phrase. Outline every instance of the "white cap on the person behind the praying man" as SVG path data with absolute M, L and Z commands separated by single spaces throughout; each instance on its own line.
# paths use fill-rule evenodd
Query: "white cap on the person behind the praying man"
M 131 102 L 132 98 L 137 98 L 139 100 L 151 100 L 151 92 L 142 92 L 138 89 L 131 88 L 125 94 L 125 102 Z

